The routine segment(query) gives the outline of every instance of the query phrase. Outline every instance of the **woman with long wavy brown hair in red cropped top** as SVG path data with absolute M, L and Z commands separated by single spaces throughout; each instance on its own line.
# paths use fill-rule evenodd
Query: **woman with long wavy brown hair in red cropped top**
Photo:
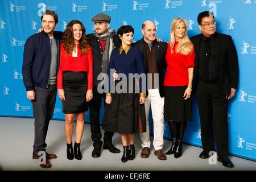
M 60 68 L 57 88 L 65 113 L 67 158 L 82 159 L 80 142 L 84 131 L 84 113 L 93 93 L 93 57 L 85 27 L 79 20 L 72 20 L 60 44 Z M 73 123 L 76 114 L 76 141 L 72 147 Z M 74 156 L 75 152 L 75 156 Z

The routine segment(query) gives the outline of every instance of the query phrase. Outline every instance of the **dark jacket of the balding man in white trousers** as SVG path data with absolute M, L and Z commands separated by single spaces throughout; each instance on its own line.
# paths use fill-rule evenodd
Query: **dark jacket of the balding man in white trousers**
M 147 65 L 147 55 L 144 47 L 143 38 L 133 43 L 132 46 L 137 47 L 141 50 L 143 55 L 143 64 L 146 73 L 148 73 L 148 65 Z M 155 40 L 155 57 L 156 57 L 156 71 L 159 73 L 159 94 L 160 97 L 164 97 L 164 75 L 163 69 L 166 69 L 166 52 L 167 52 L 167 43 L 166 42 L 157 42 Z

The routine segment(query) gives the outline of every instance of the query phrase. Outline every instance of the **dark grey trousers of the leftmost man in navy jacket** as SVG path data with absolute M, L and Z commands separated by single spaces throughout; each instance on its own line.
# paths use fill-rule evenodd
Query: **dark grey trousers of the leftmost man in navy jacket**
M 35 117 L 35 139 L 33 152 L 46 151 L 46 135 L 56 102 L 56 85 L 48 88 L 35 87 L 35 100 L 31 101 Z

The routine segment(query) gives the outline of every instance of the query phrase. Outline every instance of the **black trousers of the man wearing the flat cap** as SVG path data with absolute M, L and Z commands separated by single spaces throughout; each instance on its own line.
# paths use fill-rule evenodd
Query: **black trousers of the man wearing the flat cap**
M 102 98 L 104 98 L 105 103 L 105 93 L 100 94 L 97 91 L 97 86 L 93 88 L 93 99 L 89 102 L 89 111 L 90 111 L 90 132 L 92 133 L 93 147 L 101 148 L 101 128 L 100 128 L 100 110 L 101 110 L 101 102 Z M 110 144 L 112 143 L 112 137 L 114 133 L 105 131 L 104 133 L 104 143 Z

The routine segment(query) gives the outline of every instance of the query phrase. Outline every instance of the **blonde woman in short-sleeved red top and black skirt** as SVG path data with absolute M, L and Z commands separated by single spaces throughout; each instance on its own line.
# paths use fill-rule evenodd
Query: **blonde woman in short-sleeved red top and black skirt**
M 195 61 L 193 44 L 187 35 L 187 22 L 182 18 L 172 20 L 166 61 L 164 119 L 169 121 L 173 137 L 171 149 L 166 154 L 179 158 L 187 121 L 192 121 L 191 92 Z

